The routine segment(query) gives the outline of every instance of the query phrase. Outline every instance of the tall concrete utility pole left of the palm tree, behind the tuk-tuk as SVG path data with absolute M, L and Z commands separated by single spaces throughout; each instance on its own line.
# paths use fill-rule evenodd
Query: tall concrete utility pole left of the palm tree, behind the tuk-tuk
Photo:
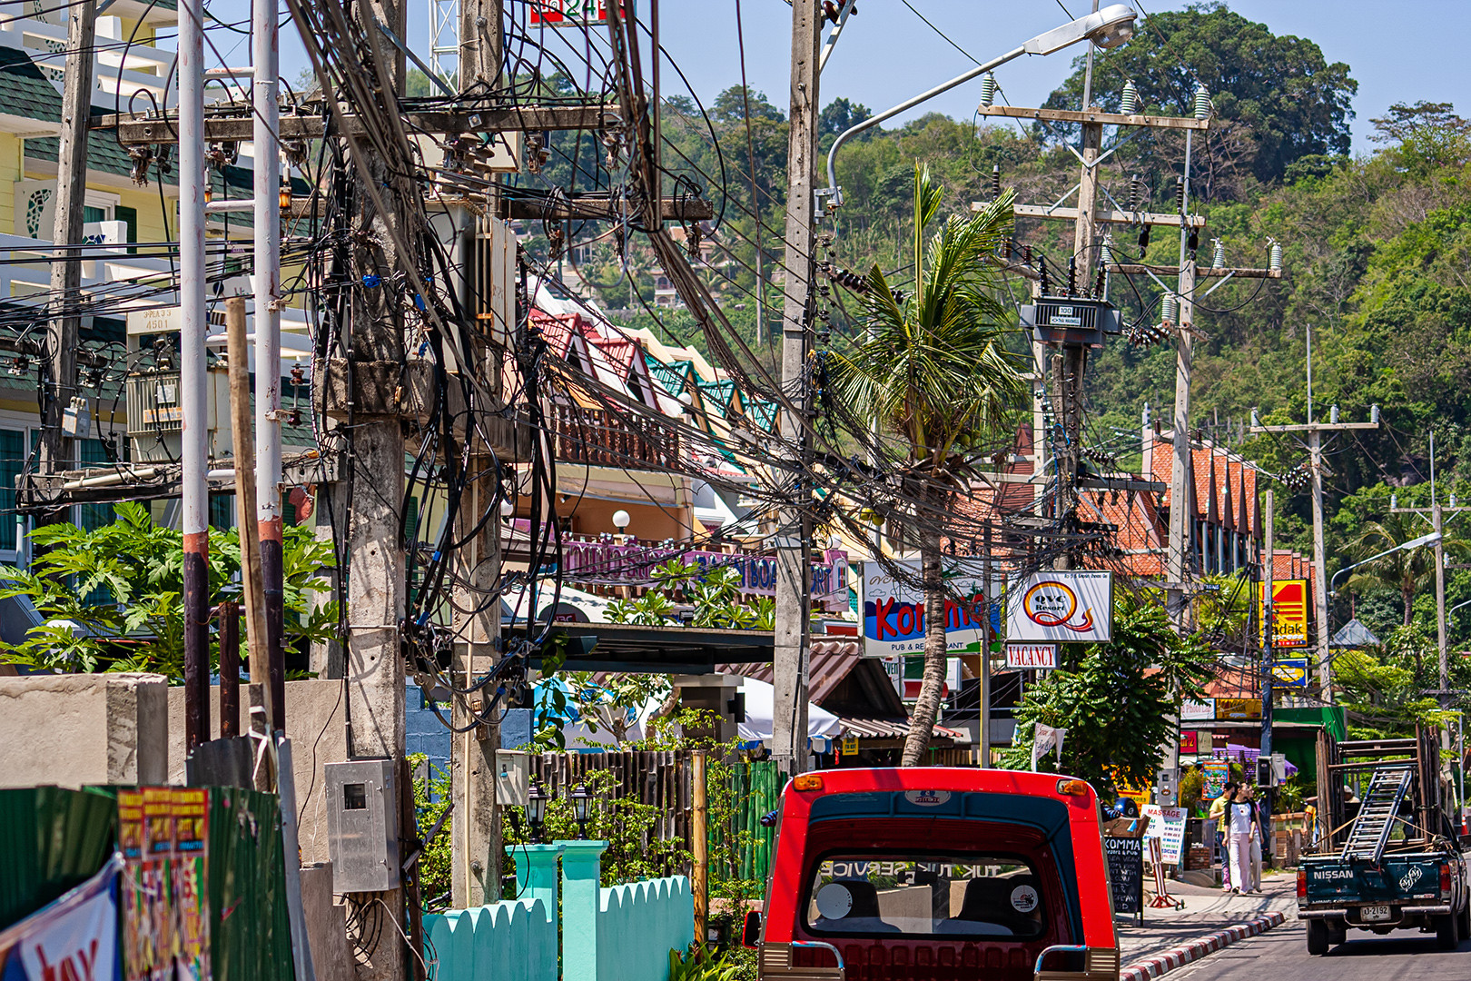
M 812 327 L 816 247 L 812 228 L 818 166 L 818 59 L 821 56 L 822 4 L 793 0 L 791 4 L 791 135 L 787 143 L 787 253 L 786 300 L 781 310 L 781 388 L 794 409 L 781 413 L 781 435 L 806 463 L 808 334 Z M 806 516 L 808 493 L 796 478 L 790 493 L 797 504 L 778 512 L 777 527 L 777 624 L 774 631 L 772 759 L 786 774 L 808 769 L 808 674 L 809 621 L 812 609 L 812 529 Z

